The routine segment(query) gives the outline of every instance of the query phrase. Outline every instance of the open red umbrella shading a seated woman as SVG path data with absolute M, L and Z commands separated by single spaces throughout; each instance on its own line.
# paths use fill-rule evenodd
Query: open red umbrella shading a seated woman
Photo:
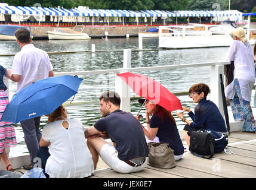
M 151 100 L 169 111 L 182 110 L 180 100 L 158 81 L 141 74 L 117 74 L 138 96 Z

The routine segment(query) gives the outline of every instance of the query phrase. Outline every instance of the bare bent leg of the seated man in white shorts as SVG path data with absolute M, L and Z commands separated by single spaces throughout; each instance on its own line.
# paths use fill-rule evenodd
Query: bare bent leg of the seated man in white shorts
M 94 170 L 97 167 L 98 163 L 98 155 L 100 155 L 100 150 L 103 147 L 104 144 L 107 142 L 101 138 L 101 137 L 95 137 L 95 138 L 87 138 L 87 146 L 91 152 L 92 160 L 94 164 Z

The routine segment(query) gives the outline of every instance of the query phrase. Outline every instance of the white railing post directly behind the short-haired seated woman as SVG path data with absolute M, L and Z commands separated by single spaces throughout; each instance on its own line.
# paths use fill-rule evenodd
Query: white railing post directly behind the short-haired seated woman
M 221 86 L 220 86 L 220 74 L 224 77 L 224 65 L 212 65 L 211 66 L 211 101 L 220 110 L 221 115 L 225 118 L 223 109 L 223 100 L 221 96 Z M 223 78 L 224 81 L 224 78 Z

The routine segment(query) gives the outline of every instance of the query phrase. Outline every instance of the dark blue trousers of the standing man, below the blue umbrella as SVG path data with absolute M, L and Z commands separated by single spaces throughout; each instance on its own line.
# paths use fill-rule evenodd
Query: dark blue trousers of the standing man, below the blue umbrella
M 30 154 L 30 163 L 32 165 L 34 164 L 33 160 L 38 155 L 39 141 L 42 137 L 41 130 L 39 128 L 40 118 L 41 116 L 20 122 L 24 132 L 24 140 L 26 142 L 27 149 L 29 150 Z

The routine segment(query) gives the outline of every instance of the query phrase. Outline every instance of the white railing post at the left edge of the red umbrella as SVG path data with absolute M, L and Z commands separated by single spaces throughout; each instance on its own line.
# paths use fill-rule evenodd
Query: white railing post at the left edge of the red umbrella
M 123 68 L 131 67 L 131 49 L 124 49 L 124 66 Z M 127 72 L 124 70 L 124 72 Z M 131 112 L 130 106 L 130 88 L 118 75 L 115 74 L 115 91 L 119 94 L 121 98 L 120 109 L 125 112 Z

